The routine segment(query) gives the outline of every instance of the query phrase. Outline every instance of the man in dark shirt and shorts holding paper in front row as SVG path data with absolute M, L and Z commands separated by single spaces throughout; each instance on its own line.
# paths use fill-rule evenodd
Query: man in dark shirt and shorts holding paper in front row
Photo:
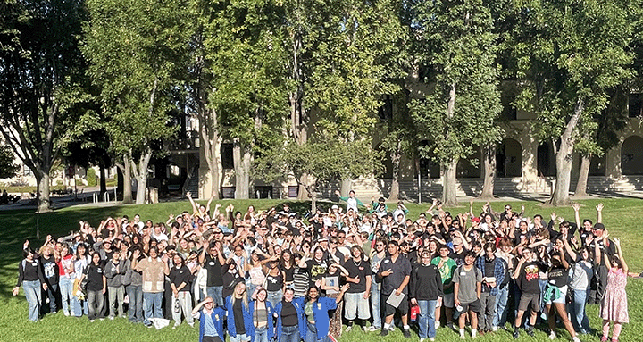
M 395 293 L 396 296 L 402 294 L 408 296 L 408 283 L 411 278 L 411 263 L 399 253 L 400 249 L 397 241 L 388 241 L 387 249 L 389 256 L 382 260 L 377 273 L 378 278 L 382 279 L 381 298 L 384 303 L 387 302 L 388 297 L 393 293 Z M 403 332 L 405 338 L 411 338 L 408 325 L 408 300 L 406 297 L 402 298 L 402 301 L 397 307 L 388 303 L 384 305 L 386 321 L 384 322 L 380 336 L 384 337 L 388 335 L 391 323 L 393 322 L 393 315 L 397 312 L 400 313 L 402 324 L 404 324 Z

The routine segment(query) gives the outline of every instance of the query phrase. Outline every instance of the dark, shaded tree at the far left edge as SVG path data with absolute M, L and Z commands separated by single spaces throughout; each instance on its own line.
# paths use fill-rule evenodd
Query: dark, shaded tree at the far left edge
M 0 19 L 2 135 L 38 182 L 38 211 L 49 210 L 50 171 L 79 113 L 73 104 L 87 63 L 78 38 L 81 1 L 3 2 Z

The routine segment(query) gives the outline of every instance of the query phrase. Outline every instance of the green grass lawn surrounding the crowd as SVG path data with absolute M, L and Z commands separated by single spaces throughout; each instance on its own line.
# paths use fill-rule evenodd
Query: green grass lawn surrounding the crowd
M 235 205 L 235 211 L 245 213 L 248 205 L 255 205 L 256 210 L 267 209 L 273 205 L 280 204 L 280 200 L 246 200 L 246 201 L 224 201 L 225 207 L 228 204 Z M 614 237 L 622 238 L 622 246 L 625 259 L 631 271 L 643 269 L 643 200 L 640 199 L 605 199 L 580 201 L 580 218 L 589 218 L 596 221 L 595 205 L 599 202 L 605 204 L 603 210 L 605 227 L 609 229 Z M 494 203 L 492 207 L 500 211 L 505 203 Z M 573 210 L 569 208 L 541 207 L 536 202 L 510 202 L 514 207 L 520 208 L 525 205 L 525 213 L 533 216 L 540 213 L 547 218 L 554 212 L 565 219 L 573 220 Z M 324 205 L 324 204 L 321 204 Z M 459 208 L 449 208 L 451 213 L 459 213 L 468 210 L 468 204 Z M 479 211 L 482 203 L 474 203 L 474 212 Z M 308 208 L 305 203 L 291 203 L 291 207 L 299 213 L 304 213 Z M 410 217 L 416 218 L 418 213 L 426 210 L 426 205 L 409 204 Z M 198 340 L 198 329 L 190 328 L 182 324 L 179 329 L 147 329 L 143 325 L 132 325 L 123 319 L 114 321 L 96 321 L 89 323 L 87 317 L 71 318 L 65 317 L 63 313 L 48 315 L 42 321 L 31 323 L 27 316 L 27 301 L 22 293 L 19 296 L 12 296 L 11 291 L 18 278 L 18 262 L 21 260 L 21 246 L 26 238 L 31 240 L 31 246 L 40 246 L 42 241 L 36 240 L 36 226 L 39 222 L 40 236 L 45 238 L 47 234 L 54 237 L 68 234 L 71 230 L 79 229 L 79 221 L 89 221 L 97 227 L 101 220 L 107 216 L 119 216 L 123 214 L 133 217 L 138 213 L 141 219 L 152 221 L 166 221 L 170 213 L 177 214 L 183 210 L 190 210 L 187 201 L 146 204 L 146 205 L 120 205 L 106 208 L 94 207 L 69 207 L 52 213 L 41 213 L 37 219 L 32 211 L 8 211 L 0 213 L 0 340 L 4 341 L 196 341 Z M 630 304 L 630 324 L 623 327 L 621 340 L 643 341 L 643 280 L 630 279 L 628 283 L 628 298 Z M 597 305 L 588 306 L 588 315 L 591 326 L 600 329 Z M 558 340 L 570 340 L 564 329 L 558 329 Z M 548 341 L 548 332 L 539 330 L 535 340 Z M 397 341 L 404 338 L 397 329 L 387 338 L 380 338 L 377 333 L 365 333 L 354 329 L 341 338 L 343 341 Z M 417 334 L 411 338 L 417 341 Z M 438 341 L 459 341 L 457 333 L 446 328 L 438 329 Z M 598 341 L 598 336 L 580 336 L 582 341 Z M 480 341 L 514 340 L 511 334 L 506 331 L 497 331 L 493 335 L 477 338 Z M 534 338 L 522 333 L 519 340 L 533 341 Z

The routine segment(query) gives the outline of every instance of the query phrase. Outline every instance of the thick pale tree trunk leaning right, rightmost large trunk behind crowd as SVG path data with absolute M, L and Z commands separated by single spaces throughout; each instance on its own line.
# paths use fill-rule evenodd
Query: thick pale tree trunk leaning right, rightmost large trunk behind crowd
M 569 188 L 572 178 L 572 154 L 575 142 L 573 132 L 578 125 L 580 114 L 583 112 L 584 108 L 584 100 L 579 98 L 574 105 L 572 118 L 567 122 L 563 135 L 561 136 L 560 147 L 555 149 L 556 184 L 554 194 L 549 199 L 548 204 L 555 206 L 570 204 Z

